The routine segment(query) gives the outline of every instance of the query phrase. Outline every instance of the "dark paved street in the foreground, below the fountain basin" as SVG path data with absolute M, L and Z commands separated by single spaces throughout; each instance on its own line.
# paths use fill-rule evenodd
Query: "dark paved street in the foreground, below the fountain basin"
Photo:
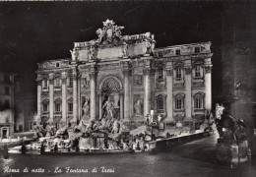
M 255 176 L 252 163 L 230 169 L 216 163 L 216 141 L 213 135 L 192 143 L 175 147 L 169 151 L 150 154 L 148 152 L 100 155 L 22 155 L 10 154 L 1 158 L 1 175 L 4 167 L 20 169 L 13 176 L 34 176 L 32 169 L 44 169 L 41 176 Z M 22 170 L 29 168 L 29 173 Z M 58 167 L 58 170 L 55 169 Z M 96 172 L 92 172 L 96 168 Z M 61 169 L 61 172 L 60 170 Z M 76 170 L 83 169 L 81 173 Z M 59 171 L 59 173 L 54 173 Z M 108 172 L 107 172 L 108 171 Z

